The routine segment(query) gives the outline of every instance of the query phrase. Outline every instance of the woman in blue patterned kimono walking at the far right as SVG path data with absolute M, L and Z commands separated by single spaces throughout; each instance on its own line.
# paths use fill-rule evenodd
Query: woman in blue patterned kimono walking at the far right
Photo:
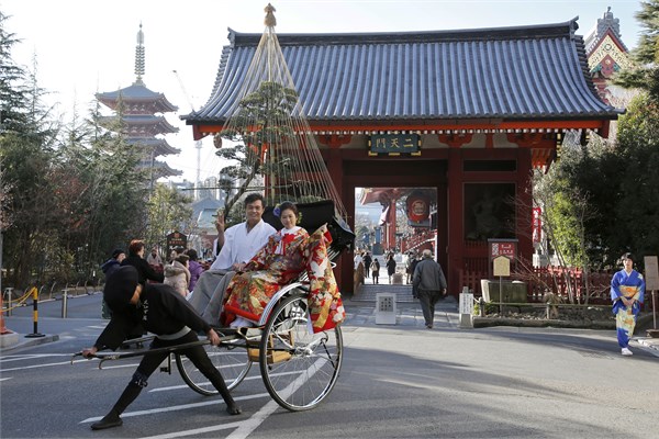
M 632 254 L 623 255 L 624 269 L 613 275 L 611 280 L 611 300 L 617 330 L 618 345 L 623 356 L 632 356 L 629 339 L 634 335 L 636 317 L 640 313 L 645 295 L 645 281 L 643 275 L 634 270 Z

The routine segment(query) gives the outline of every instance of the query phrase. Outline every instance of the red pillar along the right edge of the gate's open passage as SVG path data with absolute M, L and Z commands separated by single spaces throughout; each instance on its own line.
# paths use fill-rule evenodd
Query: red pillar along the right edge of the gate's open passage
M 463 268 L 465 257 L 465 221 L 462 218 L 463 177 L 462 154 L 458 148 L 448 150 L 448 267 L 446 275 L 448 293 L 456 295 L 460 292 L 458 273 Z

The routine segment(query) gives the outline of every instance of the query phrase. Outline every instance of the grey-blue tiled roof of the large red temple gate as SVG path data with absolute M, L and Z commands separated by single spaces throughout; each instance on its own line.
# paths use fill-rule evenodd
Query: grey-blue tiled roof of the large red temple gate
M 596 95 L 576 19 L 463 31 L 279 34 L 310 123 L 615 119 Z M 206 104 L 188 124 L 230 115 L 260 34 L 230 29 Z

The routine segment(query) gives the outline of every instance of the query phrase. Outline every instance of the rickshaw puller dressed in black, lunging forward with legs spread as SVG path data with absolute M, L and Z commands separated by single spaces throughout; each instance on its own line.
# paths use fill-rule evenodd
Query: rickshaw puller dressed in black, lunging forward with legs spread
M 103 299 L 112 309 L 112 319 L 93 347 L 82 350 L 82 356 L 86 358 L 92 358 L 99 350 L 105 348 L 116 350 L 139 322 L 156 335 L 150 349 L 198 341 L 197 334 L 202 330 L 212 345 L 220 344 L 220 336 L 180 294 L 165 284 L 143 286 L 138 282 L 137 270 L 134 267 L 121 267 L 110 277 L 103 290 Z M 231 396 L 224 378 L 209 359 L 203 346 L 188 348 L 181 353 L 213 383 L 226 403 L 226 412 L 230 415 L 241 414 L 242 410 Z M 123 420 L 120 415 L 135 401 L 142 389 L 146 387 L 148 378 L 167 356 L 168 352 L 144 356 L 116 404 L 101 420 L 92 424 L 91 429 L 101 430 L 121 426 Z

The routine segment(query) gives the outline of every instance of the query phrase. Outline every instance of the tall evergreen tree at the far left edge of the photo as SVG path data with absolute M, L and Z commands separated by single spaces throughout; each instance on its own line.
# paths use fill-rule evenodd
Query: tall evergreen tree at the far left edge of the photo
M 8 211 L 13 218 L 4 230 L 3 264 L 11 283 L 26 285 L 35 268 L 46 263 L 45 250 L 56 241 L 49 213 L 54 207 L 51 165 L 58 126 L 42 105 L 44 91 L 35 72 L 29 74 L 11 58 L 18 40 L 5 31 L 5 22 L 7 16 L 0 13 L 0 160 L 3 181 L 10 185 Z

